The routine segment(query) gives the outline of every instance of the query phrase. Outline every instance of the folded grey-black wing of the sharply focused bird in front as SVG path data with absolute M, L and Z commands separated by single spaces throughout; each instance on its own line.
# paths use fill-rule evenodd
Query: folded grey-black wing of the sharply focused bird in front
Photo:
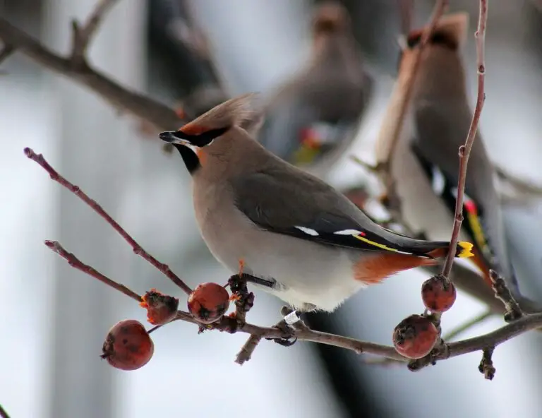
M 258 227 L 329 246 L 428 256 L 445 241 L 422 241 L 379 227 L 331 186 L 308 174 L 267 169 L 232 181 L 234 201 Z

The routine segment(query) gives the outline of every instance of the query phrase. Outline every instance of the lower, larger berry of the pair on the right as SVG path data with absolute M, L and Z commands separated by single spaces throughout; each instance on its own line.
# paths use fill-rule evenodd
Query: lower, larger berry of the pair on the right
M 425 316 L 404 318 L 393 330 L 393 345 L 399 354 L 409 359 L 421 359 L 437 342 L 438 330 Z

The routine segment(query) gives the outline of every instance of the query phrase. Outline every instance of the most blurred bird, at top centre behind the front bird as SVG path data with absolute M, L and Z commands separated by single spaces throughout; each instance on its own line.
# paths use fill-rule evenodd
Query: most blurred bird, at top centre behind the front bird
M 267 150 L 296 165 L 312 164 L 353 136 L 373 91 L 342 4 L 316 6 L 311 35 L 310 61 L 267 100 L 259 136 Z

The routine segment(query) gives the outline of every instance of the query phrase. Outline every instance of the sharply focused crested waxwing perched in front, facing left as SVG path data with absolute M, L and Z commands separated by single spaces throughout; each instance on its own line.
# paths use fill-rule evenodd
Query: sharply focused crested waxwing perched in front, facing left
M 299 312 L 332 311 L 361 287 L 447 255 L 449 242 L 379 227 L 344 195 L 255 141 L 241 128 L 253 117 L 254 97 L 228 100 L 159 135 L 179 150 L 203 239 L 232 273 L 242 265 Z M 470 256 L 471 247 L 460 242 L 455 256 Z

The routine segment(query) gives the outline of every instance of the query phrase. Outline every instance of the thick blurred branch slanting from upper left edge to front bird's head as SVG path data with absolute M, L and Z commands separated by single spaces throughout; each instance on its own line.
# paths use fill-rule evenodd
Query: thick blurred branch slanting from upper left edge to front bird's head
M 158 129 L 171 129 L 172 126 L 179 126 L 183 122 L 174 109 L 124 88 L 88 64 L 74 66 L 71 56 L 64 57 L 52 52 L 40 41 L 1 17 L 0 39 L 4 44 L 12 45 L 18 52 L 36 61 L 37 64 L 87 86 L 116 109 L 148 121 Z

